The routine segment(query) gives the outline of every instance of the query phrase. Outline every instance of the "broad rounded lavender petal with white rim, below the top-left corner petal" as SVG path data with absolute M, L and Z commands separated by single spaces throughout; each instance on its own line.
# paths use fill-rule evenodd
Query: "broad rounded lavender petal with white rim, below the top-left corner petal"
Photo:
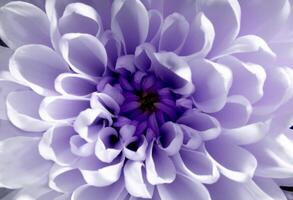
M 64 60 L 52 49 L 42 45 L 25 45 L 10 58 L 11 74 L 36 93 L 54 95 L 54 81 L 68 70 Z

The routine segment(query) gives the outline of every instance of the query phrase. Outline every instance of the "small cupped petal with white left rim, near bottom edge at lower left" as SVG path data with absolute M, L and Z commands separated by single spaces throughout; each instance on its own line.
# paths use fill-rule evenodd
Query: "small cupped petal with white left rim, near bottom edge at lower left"
M 54 165 L 50 170 L 49 186 L 55 191 L 67 193 L 85 184 L 78 169 Z

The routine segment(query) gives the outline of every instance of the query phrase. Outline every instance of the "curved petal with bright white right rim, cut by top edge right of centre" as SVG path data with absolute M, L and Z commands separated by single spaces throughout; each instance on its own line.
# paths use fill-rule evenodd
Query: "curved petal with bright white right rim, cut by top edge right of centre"
M 199 7 L 214 26 L 216 34 L 210 54 L 216 55 L 227 47 L 239 33 L 240 5 L 237 0 L 203 0 L 199 2 Z M 221 11 L 221 17 L 219 17 L 219 11 Z

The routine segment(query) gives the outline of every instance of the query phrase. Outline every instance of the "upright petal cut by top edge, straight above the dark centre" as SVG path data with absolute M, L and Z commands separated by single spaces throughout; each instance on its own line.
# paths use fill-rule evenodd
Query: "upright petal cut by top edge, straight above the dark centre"
M 111 30 L 123 41 L 128 54 L 134 53 L 135 47 L 145 41 L 148 29 L 148 13 L 140 1 L 114 1 Z

